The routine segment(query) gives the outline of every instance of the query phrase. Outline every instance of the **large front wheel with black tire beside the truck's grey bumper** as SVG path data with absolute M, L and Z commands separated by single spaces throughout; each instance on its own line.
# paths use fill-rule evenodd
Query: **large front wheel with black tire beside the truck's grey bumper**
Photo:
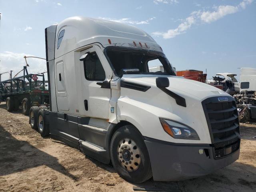
M 142 183 L 152 177 L 146 144 L 132 125 L 122 126 L 114 133 L 110 157 L 115 170 L 128 182 Z

